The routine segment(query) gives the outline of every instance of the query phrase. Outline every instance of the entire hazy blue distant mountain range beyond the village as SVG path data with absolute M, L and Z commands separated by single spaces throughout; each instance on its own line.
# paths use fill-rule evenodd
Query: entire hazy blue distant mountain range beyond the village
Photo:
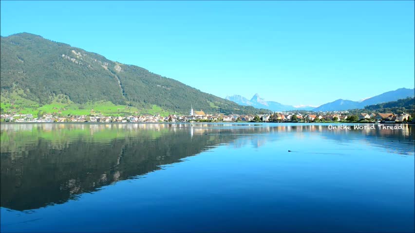
M 253 106 L 255 108 L 264 108 L 271 111 L 289 111 L 289 110 L 308 110 L 315 112 L 324 112 L 324 111 L 340 111 L 348 109 L 361 109 L 367 105 L 378 104 L 388 101 L 396 101 L 399 99 L 404 99 L 407 97 L 414 97 L 414 89 L 408 88 L 399 88 L 395 91 L 388 91 L 380 95 L 368 98 L 362 101 L 352 101 L 352 100 L 335 100 L 333 102 L 325 103 L 319 107 L 313 107 L 310 105 L 300 105 L 292 106 L 286 105 L 275 101 L 266 101 L 259 97 L 258 94 L 255 94 L 251 100 L 248 100 L 240 95 L 227 96 L 226 100 L 234 101 L 240 105 L 244 106 Z

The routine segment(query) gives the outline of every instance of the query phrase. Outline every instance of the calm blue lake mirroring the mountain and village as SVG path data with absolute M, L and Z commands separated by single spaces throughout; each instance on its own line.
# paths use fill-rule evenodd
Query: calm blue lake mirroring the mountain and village
M 414 232 L 414 131 L 1 124 L 0 230 Z

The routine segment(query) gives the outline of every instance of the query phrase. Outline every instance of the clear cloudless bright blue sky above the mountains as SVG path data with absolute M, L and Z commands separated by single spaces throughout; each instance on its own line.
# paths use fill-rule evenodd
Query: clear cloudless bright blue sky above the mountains
M 28 32 L 225 98 L 361 100 L 414 88 L 414 1 L 1 1 Z

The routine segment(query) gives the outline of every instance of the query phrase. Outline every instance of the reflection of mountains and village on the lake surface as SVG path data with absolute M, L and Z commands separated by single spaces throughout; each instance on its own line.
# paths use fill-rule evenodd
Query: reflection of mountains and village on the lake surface
M 259 148 L 312 136 L 414 155 L 414 127 L 408 125 L 329 130 L 325 124 L 2 124 L 1 207 L 31 210 L 64 203 L 218 145 Z

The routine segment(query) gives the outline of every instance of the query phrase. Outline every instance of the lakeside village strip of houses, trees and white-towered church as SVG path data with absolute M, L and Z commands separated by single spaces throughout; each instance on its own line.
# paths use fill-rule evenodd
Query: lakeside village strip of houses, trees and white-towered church
M 409 114 L 393 113 L 361 113 L 358 116 L 350 115 L 348 111 L 323 112 L 320 115 L 297 112 L 274 112 L 262 115 L 224 115 L 205 114 L 202 110 L 190 109 L 189 115 L 138 115 L 138 116 L 102 116 L 91 109 L 86 116 L 57 116 L 58 113 L 45 114 L 43 117 L 34 117 L 32 114 L 1 114 L 3 122 L 361 122 L 361 123 L 414 123 Z

